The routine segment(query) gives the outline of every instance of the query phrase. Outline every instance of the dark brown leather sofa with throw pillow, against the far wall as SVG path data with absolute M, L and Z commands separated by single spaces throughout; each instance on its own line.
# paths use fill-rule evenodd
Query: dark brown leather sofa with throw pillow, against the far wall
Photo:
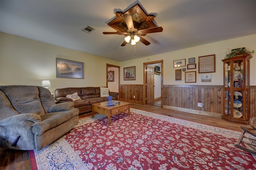
M 71 87 L 71 88 L 58 88 L 54 91 L 54 97 L 57 103 L 70 102 L 71 98 L 66 98 L 68 94 L 78 93 L 81 100 L 74 101 L 74 107 L 79 109 L 80 113 L 92 111 L 92 104 L 104 102 L 108 97 L 100 97 L 100 87 Z M 118 92 L 109 92 L 112 100 L 118 100 Z

